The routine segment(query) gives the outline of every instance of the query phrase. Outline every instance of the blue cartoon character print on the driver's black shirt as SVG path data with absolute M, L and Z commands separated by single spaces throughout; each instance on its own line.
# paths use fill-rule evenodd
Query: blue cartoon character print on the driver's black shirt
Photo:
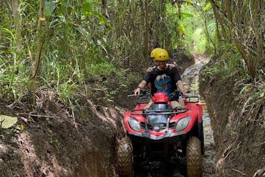
M 157 92 L 166 93 L 167 96 L 171 93 L 171 79 L 166 74 L 157 76 L 155 79 L 155 87 L 157 88 Z

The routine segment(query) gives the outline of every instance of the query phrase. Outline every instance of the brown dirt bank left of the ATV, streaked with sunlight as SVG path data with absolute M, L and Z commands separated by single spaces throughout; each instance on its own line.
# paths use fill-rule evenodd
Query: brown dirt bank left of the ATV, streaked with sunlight
M 1 105 L 0 114 L 27 114 L 19 114 L 23 132 L 1 134 L 0 176 L 114 176 L 115 143 L 124 133 L 120 113 L 84 100 L 82 117 L 72 117 L 64 105 L 39 98 L 34 109 Z

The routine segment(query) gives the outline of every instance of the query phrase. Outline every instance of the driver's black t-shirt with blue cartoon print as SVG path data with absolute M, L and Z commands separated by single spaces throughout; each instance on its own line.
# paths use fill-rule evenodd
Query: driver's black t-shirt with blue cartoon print
M 153 71 L 148 72 L 144 80 L 151 83 L 151 94 L 164 92 L 169 96 L 177 89 L 176 83 L 181 81 L 177 68 L 169 68 L 161 71 L 157 67 Z

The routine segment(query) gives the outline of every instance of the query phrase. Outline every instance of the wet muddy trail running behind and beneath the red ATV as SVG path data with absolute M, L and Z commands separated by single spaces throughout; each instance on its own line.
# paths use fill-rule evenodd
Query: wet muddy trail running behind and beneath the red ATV
M 199 71 L 208 63 L 209 58 L 201 56 L 195 57 L 195 64 L 188 67 L 181 76 L 182 81 L 187 90 L 198 91 Z M 203 176 L 214 176 L 215 167 L 215 151 L 213 132 L 211 129 L 210 117 L 207 112 L 206 103 L 202 100 L 200 104 L 203 105 L 203 129 L 204 129 L 204 155 L 203 155 Z M 185 159 L 180 159 L 180 164 L 169 164 L 166 169 L 162 168 L 159 161 L 151 161 L 144 166 L 135 166 L 136 177 L 184 177 L 186 176 Z

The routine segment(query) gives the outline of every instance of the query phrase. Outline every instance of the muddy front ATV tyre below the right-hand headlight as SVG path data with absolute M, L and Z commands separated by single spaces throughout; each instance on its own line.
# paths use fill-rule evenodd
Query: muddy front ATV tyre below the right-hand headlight
M 186 147 L 187 176 L 202 177 L 201 141 L 190 137 Z

